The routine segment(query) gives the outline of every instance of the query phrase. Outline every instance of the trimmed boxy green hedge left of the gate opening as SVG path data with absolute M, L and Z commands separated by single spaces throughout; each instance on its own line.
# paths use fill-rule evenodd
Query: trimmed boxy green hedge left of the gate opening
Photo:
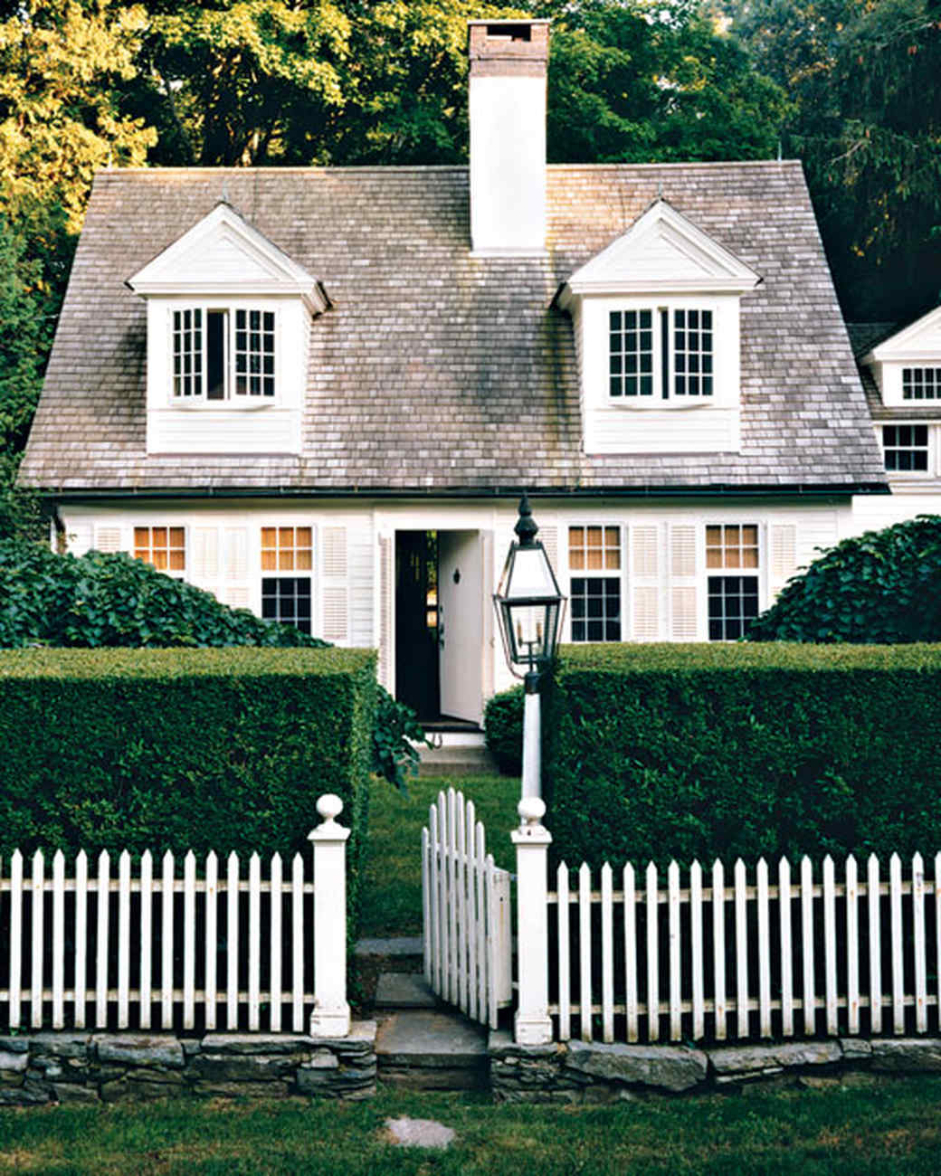
M 374 654 L 0 652 L 0 855 L 302 853 L 316 799 L 366 840 Z

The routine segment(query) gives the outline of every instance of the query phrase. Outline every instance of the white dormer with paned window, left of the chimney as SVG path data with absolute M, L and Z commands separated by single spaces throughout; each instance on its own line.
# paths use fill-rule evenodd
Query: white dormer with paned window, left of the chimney
M 127 285 L 147 301 L 148 453 L 299 453 L 321 283 L 219 203 Z

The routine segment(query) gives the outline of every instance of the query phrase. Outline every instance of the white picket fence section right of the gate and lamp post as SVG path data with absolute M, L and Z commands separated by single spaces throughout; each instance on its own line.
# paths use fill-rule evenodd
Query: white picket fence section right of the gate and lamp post
M 562 863 L 546 895 L 558 1040 L 575 1020 L 579 1037 L 605 1042 L 855 1036 L 863 1021 L 873 1035 L 937 1029 L 941 854 L 930 881 L 919 854 L 907 878 L 896 854 L 888 878 L 875 856 L 862 877 L 849 857 L 839 881 L 830 857 L 820 880 L 807 857 L 796 876 L 781 858 L 776 881 L 763 860 L 726 875 L 694 862 L 681 886 L 672 862 L 663 887 L 653 863 L 642 880 L 627 864 L 615 889 L 606 864 L 595 888 L 586 864 L 573 884 Z

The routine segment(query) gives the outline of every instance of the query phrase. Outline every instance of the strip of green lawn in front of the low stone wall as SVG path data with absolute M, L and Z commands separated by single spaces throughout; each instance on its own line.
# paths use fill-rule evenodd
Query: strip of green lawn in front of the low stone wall
M 445 1152 L 392 1147 L 389 1117 L 458 1132 Z M 383 1091 L 366 1103 L 202 1103 L 0 1110 L 0 1172 L 935 1174 L 941 1080 L 869 1090 L 710 1096 L 616 1107 L 494 1107 Z

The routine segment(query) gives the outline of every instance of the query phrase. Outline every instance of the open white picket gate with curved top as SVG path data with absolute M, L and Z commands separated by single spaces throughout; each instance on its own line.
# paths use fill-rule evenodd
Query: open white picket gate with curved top
M 509 874 L 487 853 L 473 801 L 453 788 L 421 831 L 421 882 L 428 985 L 495 1029 L 512 1000 Z

